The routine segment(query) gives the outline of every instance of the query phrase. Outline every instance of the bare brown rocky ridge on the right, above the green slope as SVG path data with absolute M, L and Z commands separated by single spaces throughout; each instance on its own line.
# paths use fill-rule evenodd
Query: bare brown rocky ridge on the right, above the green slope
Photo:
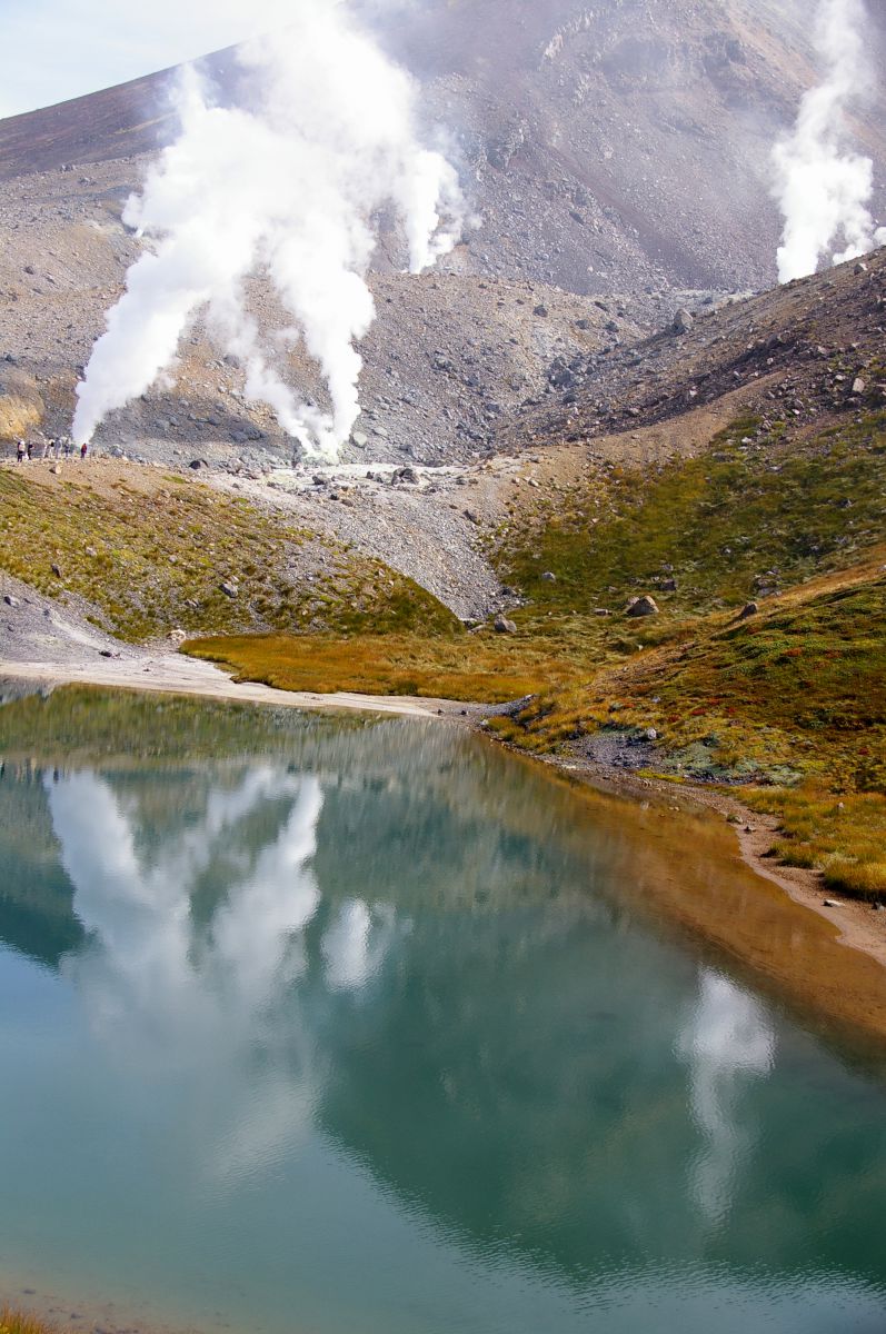
M 881 248 L 758 297 L 681 312 L 670 329 L 630 347 L 563 360 L 540 399 L 499 423 L 498 446 L 608 436 L 739 391 L 763 431 L 810 431 L 831 412 L 886 403 L 885 329 Z

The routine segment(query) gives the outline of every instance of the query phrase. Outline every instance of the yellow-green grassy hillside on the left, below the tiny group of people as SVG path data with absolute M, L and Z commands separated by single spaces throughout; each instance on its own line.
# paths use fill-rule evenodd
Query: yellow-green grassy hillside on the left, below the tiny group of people
M 92 476 L 0 470 L 0 568 L 61 602 L 87 599 L 121 639 L 197 626 L 219 634 L 459 627 L 382 562 L 287 527 L 246 499 L 175 475 Z

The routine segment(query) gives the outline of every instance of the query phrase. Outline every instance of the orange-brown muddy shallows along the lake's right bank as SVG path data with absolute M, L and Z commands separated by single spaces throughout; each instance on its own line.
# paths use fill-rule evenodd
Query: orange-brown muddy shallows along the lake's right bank
M 538 763 L 519 755 L 515 762 Z M 781 868 L 767 871 L 753 840 L 743 847 L 722 810 L 699 804 L 705 792 L 667 792 L 667 784 L 635 779 L 615 794 L 602 774 L 550 770 L 554 783 L 568 783 L 588 803 L 594 836 L 618 847 L 624 911 L 677 923 L 703 952 L 713 947 L 714 966 L 718 954 L 726 955 L 751 983 L 783 999 L 805 1027 L 882 1047 L 886 932 L 879 924 L 854 923 L 853 930 L 842 915 L 834 920 L 835 911 L 830 918 L 815 911 L 821 892 L 799 880 L 789 886 Z

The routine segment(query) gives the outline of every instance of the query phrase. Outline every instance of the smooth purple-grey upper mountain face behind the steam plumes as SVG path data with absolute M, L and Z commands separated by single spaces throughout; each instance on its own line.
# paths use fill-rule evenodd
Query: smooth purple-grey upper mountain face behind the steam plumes
M 882 68 L 881 5 L 869 25 Z M 424 0 L 386 40 L 451 128 L 484 219 L 462 268 L 575 292 L 770 285 L 769 155 L 818 77 L 807 4 Z M 236 84 L 230 52 L 208 68 Z M 157 75 L 0 123 L 0 177 L 153 151 L 175 128 L 168 88 Z M 881 215 L 885 96 L 854 123 Z

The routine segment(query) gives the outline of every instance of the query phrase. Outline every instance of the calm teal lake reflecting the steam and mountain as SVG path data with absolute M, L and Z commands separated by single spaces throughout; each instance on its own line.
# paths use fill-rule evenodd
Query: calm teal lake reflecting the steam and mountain
M 886 1330 L 883 1070 L 644 911 L 660 815 L 396 720 L 59 695 L 0 756 L 0 1294 Z

